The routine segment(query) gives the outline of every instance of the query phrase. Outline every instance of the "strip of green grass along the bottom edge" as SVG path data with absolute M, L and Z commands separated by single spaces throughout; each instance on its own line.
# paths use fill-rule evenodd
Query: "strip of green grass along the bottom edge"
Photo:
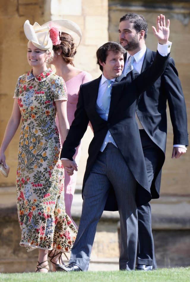
M 1 273 L 0 282 L 190 282 L 190 267 L 153 271 Z

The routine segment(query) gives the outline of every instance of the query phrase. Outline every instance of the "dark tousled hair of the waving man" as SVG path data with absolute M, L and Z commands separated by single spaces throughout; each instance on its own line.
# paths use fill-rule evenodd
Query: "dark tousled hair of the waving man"
M 99 63 L 101 61 L 102 63 L 105 63 L 108 51 L 113 51 L 115 54 L 124 54 L 126 50 L 117 42 L 109 41 L 105 44 L 103 44 L 101 47 L 98 48 L 96 51 L 96 58 L 97 58 L 97 64 L 99 65 L 100 70 L 103 72 L 103 67 Z

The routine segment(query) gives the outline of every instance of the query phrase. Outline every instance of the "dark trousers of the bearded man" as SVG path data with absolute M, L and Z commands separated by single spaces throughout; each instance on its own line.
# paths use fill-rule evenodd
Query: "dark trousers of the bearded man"
M 140 129 L 140 137 L 148 173 L 148 180 L 151 185 L 156 171 L 160 149 L 156 144 L 154 144 L 144 129 Z M 137 264 L 153 265 L 156 268 L 151 224 L 151 205 L 147 203 L 138 207 Z

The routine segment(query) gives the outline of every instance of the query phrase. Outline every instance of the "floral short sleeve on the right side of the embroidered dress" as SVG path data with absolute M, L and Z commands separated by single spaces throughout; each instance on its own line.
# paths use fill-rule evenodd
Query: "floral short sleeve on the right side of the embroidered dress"
M 53 87 L 54 101 L 64 100 L 67 101 L 66 84 L 60 76 L 55 75 L 54 87 Z

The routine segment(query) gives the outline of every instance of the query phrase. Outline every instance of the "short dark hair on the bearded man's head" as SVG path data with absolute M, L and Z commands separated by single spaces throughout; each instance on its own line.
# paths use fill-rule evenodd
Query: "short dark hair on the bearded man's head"
M 133 23 L 136 32 L 144 30 L 144 39 L 146 39 L 148 33 L 148 25 L 143 15 L 138 15 L 135 13 L 125 14 L 120 18 L 119 22 L 121 23 L 121 21 L 129 21 L 130 23 Z

